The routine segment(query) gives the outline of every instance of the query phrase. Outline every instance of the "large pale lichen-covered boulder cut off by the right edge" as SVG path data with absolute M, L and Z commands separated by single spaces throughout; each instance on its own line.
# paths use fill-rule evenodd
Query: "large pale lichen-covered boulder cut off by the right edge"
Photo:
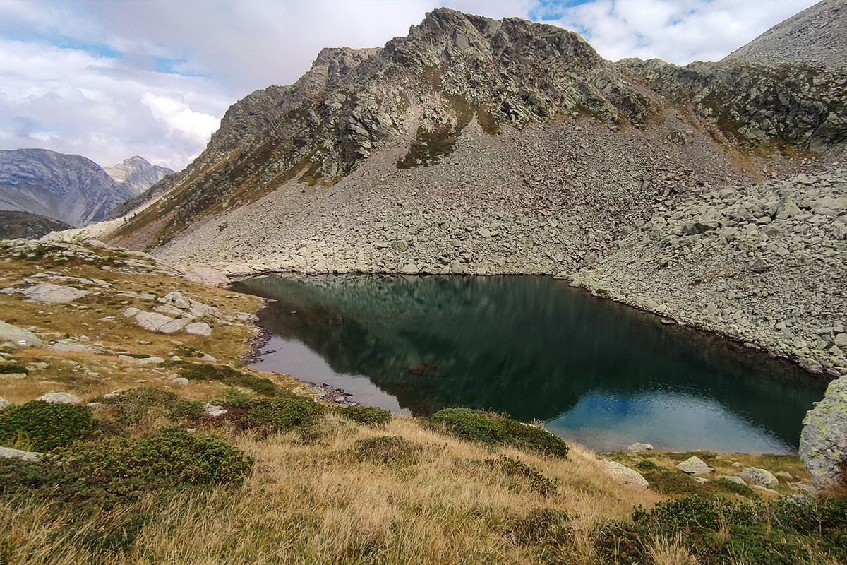
M 817 489 L 839 479 L 839 465 L 847 462 L 847 376 L 833 380 L 823 400 L 806 413 L 800 459 Z

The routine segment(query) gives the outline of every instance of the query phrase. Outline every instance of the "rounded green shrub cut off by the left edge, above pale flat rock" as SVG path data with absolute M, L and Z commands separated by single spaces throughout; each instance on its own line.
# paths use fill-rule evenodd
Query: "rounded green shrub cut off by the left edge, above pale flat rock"
M 25 436 L 36 451 L 51 451 L 84 438 L 94 428 L 91 410 L 77 404 L 31 401 L 0 412 L 0 442 Z

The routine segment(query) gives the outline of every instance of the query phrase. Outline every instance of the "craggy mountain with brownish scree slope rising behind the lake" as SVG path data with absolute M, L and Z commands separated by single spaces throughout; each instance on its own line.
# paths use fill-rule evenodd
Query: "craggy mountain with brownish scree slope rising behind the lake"
M 523 214 L 521 225 L 536 233 L 547 224 L 544 211 L 565 216 L 565 224 L 585 220 L 579 233 L 556 230 L 556 218 L 551 235 L 572 241 L 545 251 L 590 254 L 601 248 L 592 238 L 606 239 L 617 224 L 667 206 L 671 191 L 761 179 L 765 169 L 791 169 L 787 158 L 838 150 L 847 131 L 842 86 L 843 75 L 823 70 L 612 64 L 561 28 L 440 8 L 407 37 L 381 49 L 324 49 L 294 85 L 236 103 L 200 158 L 163 186 L 168 196 L 114 241 L 152 249 L 174 240 L 163 252 L 204 261 L 255 261 L 282 247 L 283 257 L 270 265 L 284 268 L 297 261 L 290 244 L 328 239 L 332 230 L 347 249 L 355 242 L 365 254 L 360 263 L 374 269 L 412 263 L 440 271 L 441 254 L 450 250 L 435 244 L 462 239 L 446 226 L 492 231 L 490 224 Z M 403 218 L 420 218 L 416 233 L 418 224 L 432 231 L 420 252 L 383 251 L 386 236 L 390 246 L 413 235 L 390 225 L 396 202 L 406 208 Z M 462 225 L 449 218 L 482 202 L 496 202 L 501 218 L 488 203 Z M 241 210 L 246 204 L 274 213 L 261 214 L 256 226 L 244 221 L 259 219 Z M 353 218 L 368 221 L 346 221 L 350 208 L 357 208 Z M 324 221 L 327 210 L 340 214 L 337 221 Z M 214 236 L 224 220 L 223 235 Z M 192 238 L 196 228 L 202 236 Z M 236 236 L 243 245 L 232 241 Z M 311 266 L 321 263 L 321 252 L 309 255 L 316 257 Z M 465 252 L 473 253 L 458 255 Z M 325 265 L 355 267 L 329 255 Z M 529 255 L 526 262 L 539 263 L 532 272 L 579 264 Z

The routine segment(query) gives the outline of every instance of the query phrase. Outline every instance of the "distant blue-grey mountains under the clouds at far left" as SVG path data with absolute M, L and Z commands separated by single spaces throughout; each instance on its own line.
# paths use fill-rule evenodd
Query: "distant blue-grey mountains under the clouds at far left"
M 0 210 L 91 224 L 170 173 L 141 157 L 103 169 L 80 155 L 47 149 L 0 151 Z

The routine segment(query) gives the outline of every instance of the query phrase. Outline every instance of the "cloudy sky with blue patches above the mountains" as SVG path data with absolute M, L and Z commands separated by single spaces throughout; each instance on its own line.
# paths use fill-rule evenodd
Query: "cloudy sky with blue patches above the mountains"
M 321 47 L 376 47 L 438 6 L 582 34 L 601 55 L 716 60 L 814 0 L 3 0 L 0 149 L 181 169 L 226 108 Z

